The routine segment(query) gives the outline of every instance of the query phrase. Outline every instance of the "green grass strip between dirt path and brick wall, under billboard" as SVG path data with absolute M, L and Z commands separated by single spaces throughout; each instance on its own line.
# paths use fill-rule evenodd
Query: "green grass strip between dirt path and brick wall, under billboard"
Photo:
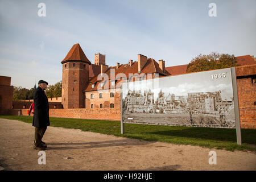
M 32 123 L 33 117 L 18 115 L 0 115 L 0 118 L 15 119 Z M 125 123 L 125 134 L 121 134 L 120 122 L 88 119 L 50 118 L 51 126 L 67 129 L 80 129 L 95 133 L 136 138 L 148 141 L 174 144 L 190 144 L 208 148 L 256 151 L 256 130 L 241 129 L 242 146 L 236 143 L 236 129 L 213 129 L 204 127 L 179 127 L 159 125 L 139 125 Z

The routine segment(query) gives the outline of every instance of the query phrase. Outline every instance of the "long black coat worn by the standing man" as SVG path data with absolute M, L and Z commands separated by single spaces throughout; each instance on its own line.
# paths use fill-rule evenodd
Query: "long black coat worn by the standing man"
M 35 90 L 34 95 L 34 117 L 33 125 L 35 127 L 49 126 L 49 104 L 48 98 L 40 86 Z

